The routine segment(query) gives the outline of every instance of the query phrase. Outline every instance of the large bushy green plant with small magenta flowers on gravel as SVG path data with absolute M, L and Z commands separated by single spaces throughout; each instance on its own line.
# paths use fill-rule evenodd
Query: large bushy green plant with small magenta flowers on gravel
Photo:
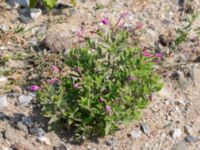
M 75 129 L 79 139 L 107 135 L 137 118 L 162 86 L 153 70 L 155 58 L 143 56 L 127 31 L 99 31 L 86 41 L 67 53 L 70 70 L 61 81 L 37 92 L 50 124 Z

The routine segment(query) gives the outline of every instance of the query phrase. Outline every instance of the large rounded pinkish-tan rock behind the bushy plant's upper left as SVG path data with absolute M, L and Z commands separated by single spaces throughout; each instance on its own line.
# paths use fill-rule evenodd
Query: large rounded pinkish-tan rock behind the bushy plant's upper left
M 47 34 L 43 45 L 49 50 L 59 52 L 69 49 L 72 46 L 72 41 L 67 32 L 59 31 Z

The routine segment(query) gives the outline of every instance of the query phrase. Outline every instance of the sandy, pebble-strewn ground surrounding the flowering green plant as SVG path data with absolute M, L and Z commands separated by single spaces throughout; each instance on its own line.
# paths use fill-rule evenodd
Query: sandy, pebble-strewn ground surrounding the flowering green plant
M 200 37 L 191 31 L 179 51 L 167 45 L 176 28 L 200 11 L 199 0 L 79 0 L 72 7 L 59 1 L 52 16 L 0 1 L 0 149 L 1 150 L 199 150 Z M 9 5 L 10 4 L 10 5 Z M 103 17 L 116 21 L 128 12 L 126 28 L 143 25 L 142 46 L 165 54 L 157 67 L 164 87 L 152 96 L 139 120 L 115 134 L 73 144 L 67 133 L 47 130 L 34 93 L 24 88 L 32 54 L 59 52 L 89 35 Z M 194 28 L 200 24 L 200 17 Z M 3 60 L 3 61 L 2 61 Z M 32 60 L 33 61 L 33 60 Z M 33 63 L 33 62 L 32 62 Z

